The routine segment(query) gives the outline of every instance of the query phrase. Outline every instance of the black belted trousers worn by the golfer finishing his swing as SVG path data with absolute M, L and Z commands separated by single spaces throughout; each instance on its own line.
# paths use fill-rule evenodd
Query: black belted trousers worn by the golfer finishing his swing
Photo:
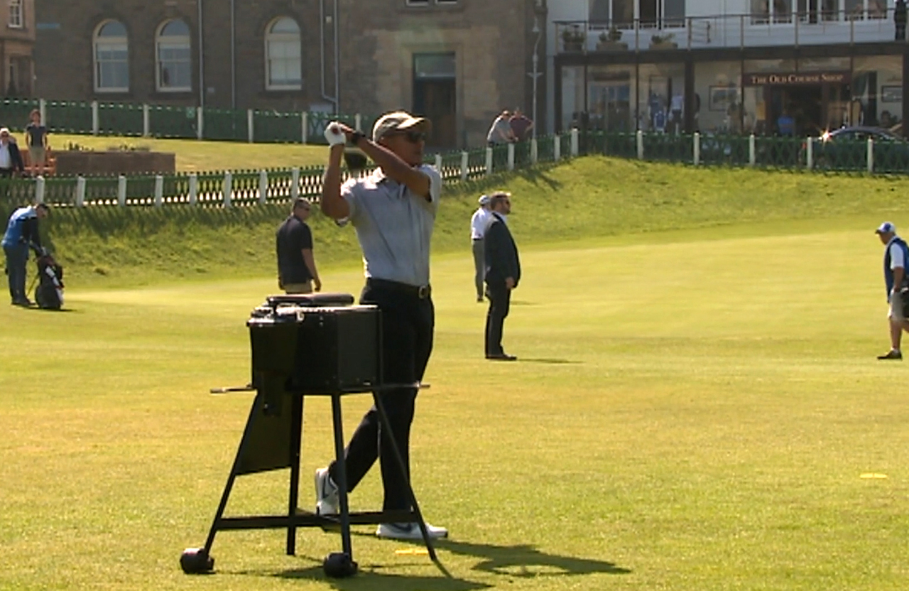
M 431 298 L 418 297 L 416 292 L 366 284 L 360 295 L 361 304 L 375 304 L 382 313 L 383 377 L 386 384 L 415 384 L 423 379 L 429 355 L 433 351 L 435 308 Z M 414 421 L 415 387 L 402 387 L 378 393 L 395 442 L 407 466 L 402 475 L 394 451 L 383 433 L 375 405 L 366 412 L 345 450 L 347 488 L 355 486 L 369 469 L 380 460 L 382 484 L 385 487 L 384 510 L 411 508 L 407 494 L 410 479 L 410 426 Z M 337 482 L 335 462 L 329 474 Z

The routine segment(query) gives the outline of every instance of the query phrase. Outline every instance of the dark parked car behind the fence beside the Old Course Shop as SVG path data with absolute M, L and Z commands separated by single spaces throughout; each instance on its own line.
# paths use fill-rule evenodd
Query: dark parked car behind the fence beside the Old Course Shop
M 812 142 L 813 165 L 830 170 L 864 170 L 868 162 L 868 138 L 874 143 L 876 163 L 885 168 L 905 169 L 909 166 L 909 143 L 882 127 L 841 127 L 826 131 Z M 807 145 L 802 144 L 799 160 L 807 162 Z

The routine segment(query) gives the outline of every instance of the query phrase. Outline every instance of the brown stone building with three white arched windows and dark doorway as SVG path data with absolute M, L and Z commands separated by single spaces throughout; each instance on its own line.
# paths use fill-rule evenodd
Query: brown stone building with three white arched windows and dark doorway
M 439 146 L 482 144 L 502 108 L 531 114 L 534 49 L 545 55 L 534 30 L 544 27 L 544 0 L 28 1 L 35 96 L 365 115 L 405 108 L 434 119 Z M 541 83 L 541 118 L 544 95 Z

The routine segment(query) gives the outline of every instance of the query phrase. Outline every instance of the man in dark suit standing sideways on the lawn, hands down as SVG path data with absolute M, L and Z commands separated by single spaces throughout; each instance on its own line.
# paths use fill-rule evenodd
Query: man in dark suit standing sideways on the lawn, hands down
M 512 290 L 521 280 L 521 261 L 517 256 L 511 231 L 505 224 L 505 215 L 511 213 L 511 194 L 490 195 L 489 225 L 484 235 L 486 259 L 486 296 L 489 312 L 486 314 L 486 359 L 514 361 L 502 348 L 502 326 L 511 304 Z

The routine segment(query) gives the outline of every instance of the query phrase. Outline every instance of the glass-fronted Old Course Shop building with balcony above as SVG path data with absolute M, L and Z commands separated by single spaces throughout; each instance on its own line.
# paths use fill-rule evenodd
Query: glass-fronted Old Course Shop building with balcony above
M 564 0 L 548 27 L 554 127 L 907 135 L 894 16 L 884 0 Z

